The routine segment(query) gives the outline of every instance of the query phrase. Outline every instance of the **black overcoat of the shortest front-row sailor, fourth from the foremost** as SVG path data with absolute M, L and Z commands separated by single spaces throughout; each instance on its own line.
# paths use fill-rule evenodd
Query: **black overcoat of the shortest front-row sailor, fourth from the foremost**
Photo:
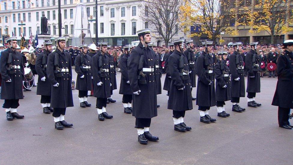
M 221 67 L 222 65 L 222 67 Z M 226 72 L 228 77 L 223 77 L 223 71 Z M 231 82 L 229 77 L 229 67 L 225 60 L 218 60 L 214 67 L 216 78 L 216 101 L 228 101 L 231 100 Z M 224 86 L 225 88 L 222 88 Z

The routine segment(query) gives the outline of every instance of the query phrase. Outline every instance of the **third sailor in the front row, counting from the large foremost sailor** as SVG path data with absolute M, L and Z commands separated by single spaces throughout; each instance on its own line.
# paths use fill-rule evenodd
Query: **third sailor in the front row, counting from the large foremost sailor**
M 213 49 L 212 41 L 202 42 L 203 49 L 196 61 L 198 86 L 196 91 L 196 105 L 198 105 L 200 121 L 203 123 L 215 122 L 209 115 L 210 107 L 216 105 L 214 60 L 210 55 Z

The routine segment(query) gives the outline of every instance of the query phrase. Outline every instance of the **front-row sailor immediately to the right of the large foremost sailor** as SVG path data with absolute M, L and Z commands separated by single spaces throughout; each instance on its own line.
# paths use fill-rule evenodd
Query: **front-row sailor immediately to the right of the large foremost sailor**
M 168 109 L 173 110 L 174 130 L 179 132 L 191 130 L 183 120 L 185 111 L 192 109 L 189 62 L 182 51 L 184 41 L 184 38 L 174 40 L 175 50 L 168 58 L 168 69 L 172 78 Z

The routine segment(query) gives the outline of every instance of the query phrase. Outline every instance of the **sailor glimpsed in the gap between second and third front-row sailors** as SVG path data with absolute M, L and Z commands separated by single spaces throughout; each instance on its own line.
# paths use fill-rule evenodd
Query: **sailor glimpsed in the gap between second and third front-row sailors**
M 196 72 L 195 72 L 195 56 L 193 53 L 193 49 L 194 49 L 194 44 L 193 44 L 193 40 L 189 40 L 186 41 L 186 47 L 187 49 L 183 52 L 183 54 L 185 55 L 185 57 L 188 60 L 189 63 L 189 77 L 190 77 L 190 82 L 191 82 L 191 86 L 196 87 Z M 192 90 L 191 88 L 191 90 Z M 192 100 L 196 100 L 195 97 L 192 97 Z

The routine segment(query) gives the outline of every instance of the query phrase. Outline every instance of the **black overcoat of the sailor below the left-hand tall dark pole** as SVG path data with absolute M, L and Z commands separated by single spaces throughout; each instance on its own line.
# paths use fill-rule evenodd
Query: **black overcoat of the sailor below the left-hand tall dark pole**
M 59 54 L 59 68 L 60 69 L 68 69 L 69 72 L 58 72 L 58 74 L 62 74 L 61 77 L 55 77 L 54 73 L 54 58 L 55 54 Z M 47 61 L 47 75 L 48 80 L 52 84 L 51 91 L 51 107 L 52 108 L 66 108 L 73 107 L 73 98 L 72 98 L 72 69 L 71 69 L 71 56 L 69 53 L 61 52 L 58 48 L 48 55 Z M 54 87 L 53 85 L 59 83 L 58 87 Z

